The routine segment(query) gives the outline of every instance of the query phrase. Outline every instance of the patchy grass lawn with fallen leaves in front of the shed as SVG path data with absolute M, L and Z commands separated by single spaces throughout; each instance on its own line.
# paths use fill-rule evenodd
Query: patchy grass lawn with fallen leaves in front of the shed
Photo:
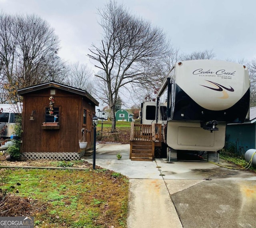
M 36 228 L 126 227 L 128 185 L 106 169 L 1 168 L 0 216 L 34 216 Z

